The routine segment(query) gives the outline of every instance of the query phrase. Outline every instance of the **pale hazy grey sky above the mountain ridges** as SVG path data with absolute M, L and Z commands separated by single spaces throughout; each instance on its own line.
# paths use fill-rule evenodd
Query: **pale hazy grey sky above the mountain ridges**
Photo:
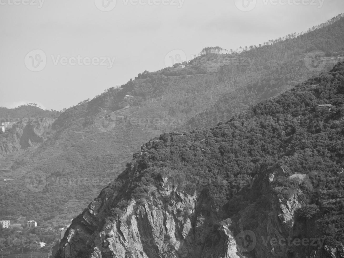
M 342 12 L 343 0 L 0 0 L 0 106 L 61 110 L 170 56 L 258 45 Z

